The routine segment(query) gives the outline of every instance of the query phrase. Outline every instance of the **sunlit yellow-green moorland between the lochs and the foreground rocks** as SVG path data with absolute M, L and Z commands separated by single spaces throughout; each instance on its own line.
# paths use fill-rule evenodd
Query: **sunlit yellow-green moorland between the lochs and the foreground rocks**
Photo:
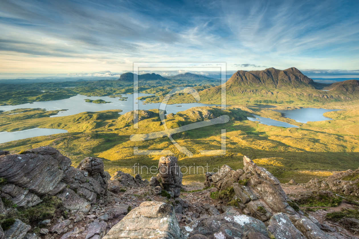
M 306 182 L 309 178 L 328 176 L 332 171 L 359 167 L 359 114 L 346 110 L 328 112 L 333 120 L 302 124 L 283 118 L 280 113 L 253 107 L 231 106 L 222 111 L 220 107 L 195 107 L 176 115 L 168 115 L 168 128 L 202 121 L 219 115 L 229 115 L 225 124 L 207 126 L 173 135 L 178 144 L 190 150 L 194 157 L 187 158 L 178 152 L 167 137 L 131 142 L 131 134 L 144 134 L 164 130 L 158 110 L 150 110 L 145 119 L 134 129 L 131 115 L 119 115 L 121 110 L 84 112 L 71 116 L 50 118 L 57 111 L 41 109 L 19 109 L 0 113 L 0 132 L 31 128 L 66 129 L 69 133 L 0 144 L 0 149 L 15 153 L 23 149 L 49 145 L 70 157 L 73 165 L 88 156 L 101 157 L 111 174 L 117 170 L 132 172 L 135 163 L 139 166 L 157 166 L 160 156 L 133 155 L 133 148 L 171 150 L 181 166 L 206 166 L 209 169 L 228 164 L 233 169 L 243 167 L 243 155 L 266 167 L 282 182 L 294 178 Z M 14 114 L 20 113 L 21 114 Z M 262 115 L 295 124 L 299 128 L 267 126 L 247 120 L 248 113 Z M 14 114 L 14 115 L 10 115 Z M 21 115 L 21 117 L 20 117 Z M 220 149 L 221 129 L 227 130 L 227 154 L 225 156 L 203 156 L 199 150 Z M 132 171 L 131 171 L 132 170 Z M 204 175 L 184 176 L 184 182 L 203 181 Z M 199 168 L 199 173 L 202 169 Z M 144 169 L 142 176 L 151 175 Z

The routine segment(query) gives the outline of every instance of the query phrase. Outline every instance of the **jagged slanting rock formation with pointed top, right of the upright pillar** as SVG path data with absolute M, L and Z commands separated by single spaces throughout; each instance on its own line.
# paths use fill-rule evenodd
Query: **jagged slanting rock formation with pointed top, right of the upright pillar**
M 295 213 L 276 177 L 246 156 L 243 157 L 243 164 L 243 170 L 237 171 L 223 165 L 211 176 L 215 187 L 220 191 L 233 187 L 236 193 L 234 200 L 238 201 L 243 213 L 265 222 L 266 225 L 275 213 Z

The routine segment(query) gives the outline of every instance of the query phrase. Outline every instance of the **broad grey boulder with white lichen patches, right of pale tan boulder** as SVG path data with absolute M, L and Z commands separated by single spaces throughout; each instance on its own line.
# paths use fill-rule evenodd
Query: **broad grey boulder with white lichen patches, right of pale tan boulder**
M 185 226 L 185 230 L 188 239 L 245 238 L 251 232 L 268 237 L 264 223 L 250 216 L 241 215 L 233 207 L 229 207 L 221 215 L 197 218 Z

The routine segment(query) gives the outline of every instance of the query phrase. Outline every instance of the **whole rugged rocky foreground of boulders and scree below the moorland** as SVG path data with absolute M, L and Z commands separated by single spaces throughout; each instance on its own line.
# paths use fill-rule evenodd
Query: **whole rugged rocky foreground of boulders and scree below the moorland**
M 295 207 L 278 179 L 246 156 L 243 169 L 223 165 L 217 173 L 207 172 L 209 188 L 198 198 L 180 195 L 182 174 L 173 156 L 160 158 L 159 174 L 148 182 L 121 171 L 110 180 L 99 158 L 85 158 L 74 168 L 51 147 L 0 153 L 1 223 L 48 196 L 61 199 L 64 213 L 36 221 L 36 233 L 19 219 L 8 221 L 1 224 L 6 230 L 0 227 L 0 239 L 354 238 Z M 340 180 L 355 177 L 355 172 L 342 173 Z M 209 195 L 217 195 L 216 205 Z M 341 221 L 354 229 L 359 225 L 356 219 Z

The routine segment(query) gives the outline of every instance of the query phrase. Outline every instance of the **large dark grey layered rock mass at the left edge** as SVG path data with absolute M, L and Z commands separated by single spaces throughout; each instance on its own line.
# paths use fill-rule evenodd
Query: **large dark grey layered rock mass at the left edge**
M 2 153 L 0 177 L 6 179 L 1 197 L 18 207 L 34 206 L 39 196 L 56 195 L 67 210 L 88 212 L 97 197 L 107 193 L 107 180 L 102 159 L 85 158 L 78 168 L 52 147 L 29 149 L 22 154 Z M 25 188 L 25 189 L 24 189 Z

